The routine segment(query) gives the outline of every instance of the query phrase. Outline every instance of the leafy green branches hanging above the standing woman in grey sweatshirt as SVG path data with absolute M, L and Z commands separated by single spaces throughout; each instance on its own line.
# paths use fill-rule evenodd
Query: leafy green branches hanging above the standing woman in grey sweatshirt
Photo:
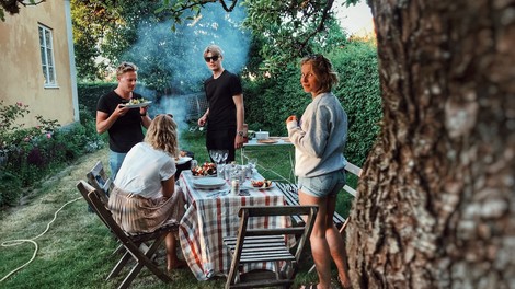
M 263 69 L 275 73 L 294 57 L 324 46 L 328 38 L 342 35 L 332 13 L 332 1 L 243 1 L 248 16 L 243 25 L 263 38 L 260 54 Z

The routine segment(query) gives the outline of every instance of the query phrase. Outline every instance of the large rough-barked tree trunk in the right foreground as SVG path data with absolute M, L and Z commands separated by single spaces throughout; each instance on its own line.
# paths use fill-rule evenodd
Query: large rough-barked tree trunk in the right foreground
M 354 288 L 515 288 L 515 1 L 370 2 L 384 119 Z

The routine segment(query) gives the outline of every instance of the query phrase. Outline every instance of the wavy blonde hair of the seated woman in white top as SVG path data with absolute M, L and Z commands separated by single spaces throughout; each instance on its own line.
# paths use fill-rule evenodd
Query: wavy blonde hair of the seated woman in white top
M 172 157 L 179 155 L 178 125 L 170 115 L 158 115 L 148 127 L 145 142 Z

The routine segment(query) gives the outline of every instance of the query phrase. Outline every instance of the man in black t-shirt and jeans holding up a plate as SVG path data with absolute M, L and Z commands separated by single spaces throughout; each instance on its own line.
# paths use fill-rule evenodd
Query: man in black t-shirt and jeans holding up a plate
M 118 85 L 114 91 L 100 97 L 96 104 L 96 131 L 110 135 L 110 167 L 114 180 L 122 166 L 127 152 L 134 144 L 144 140 L 141 126 L 148 128 L 150 117 L 147 115 L 148 106 L 128 108 L 123 103 L 131 99 L 142 99 L 134 92 L 138 68 L 130 62 L 123 62 L 116 70 Z

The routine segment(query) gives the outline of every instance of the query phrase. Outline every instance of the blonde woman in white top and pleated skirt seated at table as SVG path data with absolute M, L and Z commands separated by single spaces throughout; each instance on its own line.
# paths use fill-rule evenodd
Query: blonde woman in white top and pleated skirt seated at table
M 158 115 L 145 140 L 127 153 L 114 181 L 108 207 L 127 233 L 152 232 L 184 215 L 184 197 L 175 186 L 175 157 L 179 154 L 176 124 L 169 115 Z M 167 268 L 185 266 L 176 256 L 175 235 L 164 239 Z

